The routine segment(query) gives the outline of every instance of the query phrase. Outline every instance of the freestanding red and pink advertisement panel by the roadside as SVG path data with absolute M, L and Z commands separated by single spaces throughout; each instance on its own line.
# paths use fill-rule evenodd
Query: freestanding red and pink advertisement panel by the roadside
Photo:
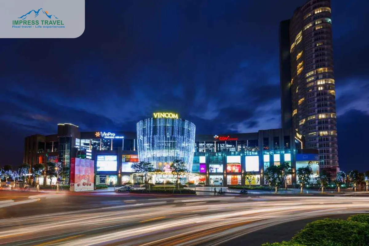
M 94 161 L 70 159 L 70 191 L 94 190 Z

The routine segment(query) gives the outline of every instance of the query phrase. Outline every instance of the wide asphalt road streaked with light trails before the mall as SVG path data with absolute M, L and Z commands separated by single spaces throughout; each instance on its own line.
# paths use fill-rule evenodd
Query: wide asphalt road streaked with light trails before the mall
M 309 218 L 369 212 L 369 197 L 19 195 L 0 192 L 0 245 L 256 246 L 289 239 Z

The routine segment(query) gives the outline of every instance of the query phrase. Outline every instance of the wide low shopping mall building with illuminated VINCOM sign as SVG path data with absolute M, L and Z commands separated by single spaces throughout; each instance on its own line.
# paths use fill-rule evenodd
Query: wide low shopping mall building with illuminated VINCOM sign
M 230 186 L 245 184 L 242 174 L 253 172 L 251 184 L 263 185 L 263 170 L 287 162 L 292 167 L 288 184 L 296 184 L 296 169 L 310 166 L 319 171 L 317 150 L 304 149 L 304 138 L 295 130 L 269 129 L 254 133 L 196 135 L 195 125 L 174 113 L 154 113 L 137 123 L 137 132 L 111 132 L 97 129 L 81 132 L 73 124 L 58 124 L 54 135 L 25 138 L 24 162 L 34 165 L 62 162 L 69 166 L 72 157 L 92 159 L 97 168 L 96 184 L 142 183 L 142 174 L 131 164 L 151 162 L 155 171 L 151 183 L 174 182 L 170 163 L 182 160 L 188 169 L 182 184 Z M 50 184 L 44 176 L 41 183 Z M 52 183 L 55 183 L 55 179 Z

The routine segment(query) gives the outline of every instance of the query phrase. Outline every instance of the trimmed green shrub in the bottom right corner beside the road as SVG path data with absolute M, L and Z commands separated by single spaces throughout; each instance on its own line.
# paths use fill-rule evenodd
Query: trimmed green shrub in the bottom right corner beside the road
M 368 246 L 369 225 L 341 219 L 311 222 L 290 242 L 306 246 Z

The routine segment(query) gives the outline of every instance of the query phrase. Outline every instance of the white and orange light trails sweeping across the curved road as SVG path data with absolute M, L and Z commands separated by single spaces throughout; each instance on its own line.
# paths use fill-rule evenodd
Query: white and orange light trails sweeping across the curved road
M 0 245 L 210 246 L 285 222 L 369 212 L 369 197 L 166 197 L 122 204 L 3 219 Z

